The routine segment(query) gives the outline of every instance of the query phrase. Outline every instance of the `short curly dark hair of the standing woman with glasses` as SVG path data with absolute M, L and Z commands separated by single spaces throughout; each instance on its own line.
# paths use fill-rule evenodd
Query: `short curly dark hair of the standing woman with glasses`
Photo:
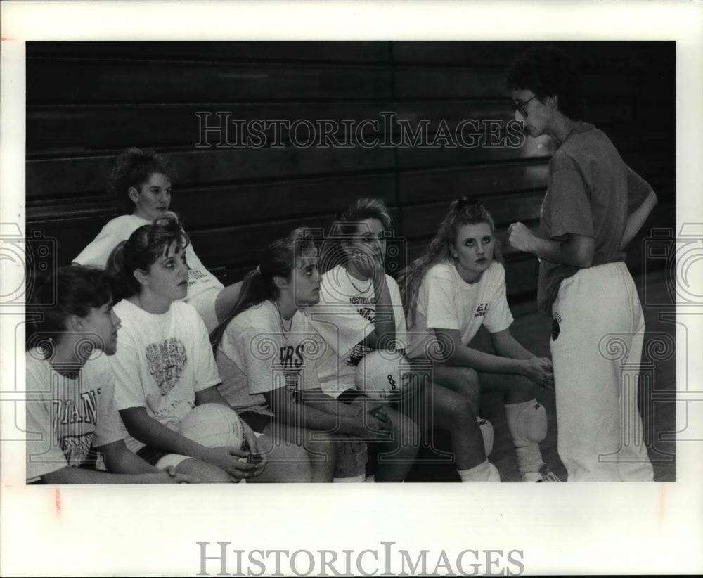
M 517 58 L 505 75 L 505 87 L 508 91 L 530 90 L 540 101 L 556 96 L 559 110 L 572 120 L 586 115 L 579 71 L 557 46 L 534 46 Z

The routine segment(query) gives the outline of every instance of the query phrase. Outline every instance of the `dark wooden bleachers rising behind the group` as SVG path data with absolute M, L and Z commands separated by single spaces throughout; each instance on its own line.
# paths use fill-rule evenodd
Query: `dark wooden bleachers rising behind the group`
M 554 150 L 548 137 L 522 148 L 195 147 L 197 111 L 313 122 L 394 112 L 413 126 L 430 120 L 432 130 L 441 120 L 450 128 L 465 119 L 509 120 L 504 71 L 532 44 L 27 42 L 27 234 L 43 229 L 55 237 L 58 262 L 68 264 L 117 214 L 105 185 L 112 159 L 127 146 L 175 160 L 172 210 L 225 283 L 238 281 L 273 238 L 299 224 L 328 226 L 360 196 L 385 200 L 408 258 L 460 195 L 482 198 L 499 236 L 516 220 L 536 226 Z M 586 120 L 659 195 L 631 245 L 628 265 L 637 274 L 640 240 L 652 226 L 674 223 L 676 43 L 555 44 L 582 72 Z M 504 252 L 510 302 L 529 311 L 536 259 Z

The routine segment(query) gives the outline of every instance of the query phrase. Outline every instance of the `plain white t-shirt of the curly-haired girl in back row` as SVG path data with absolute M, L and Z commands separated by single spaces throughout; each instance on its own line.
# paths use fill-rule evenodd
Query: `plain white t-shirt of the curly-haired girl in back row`
M 150 224 L 151 221 L 136 217 L 134 214 L 123 214 L 122 217 L 115 217 L 103 227 L 98 236 L 80 252 L 80 255 L 73 259 L 73 262 L 105 269 L 112 249 L 121 241 L 127 240 L 131 233 L 134 233 L 142 225 Z M 193 245 L 190 244 L 186 247 L 186 262 L 189 269 L 186 302 L 196 300 L 201 297 L 202 293 L 213 289 L 219 293 L 224 287 L 216 276 L 205 269 L 205 266 L 198 259 L 198 255 L 195 255 Z M 197 304 L 193 303 L 193 306 L 199 309 Z

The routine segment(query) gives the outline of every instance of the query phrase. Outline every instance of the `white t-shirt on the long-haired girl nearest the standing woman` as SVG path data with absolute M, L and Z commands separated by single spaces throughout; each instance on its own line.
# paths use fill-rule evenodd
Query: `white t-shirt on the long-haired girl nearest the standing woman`
M 432 329 L 457 329 L 467 345 L 480 326 L 498 333 L 508 329 L 512 321 L 502 264 L 492 262 L 479 281 L 467 283 L 451 262 L 438 263 L 420 284 L 408 357 L 427 357 L 425 348 L 434 341 Z

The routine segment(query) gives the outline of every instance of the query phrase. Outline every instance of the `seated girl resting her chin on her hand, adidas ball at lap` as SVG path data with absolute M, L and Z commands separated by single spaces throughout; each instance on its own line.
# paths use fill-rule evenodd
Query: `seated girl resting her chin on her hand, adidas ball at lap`
M 363 416 L 373 408 L 356 385 L 356 368 L 369 352 L 403 349 L 406 324 L 398 285 L 385 274 L 386 237 L 391 219 L 376 199 L 359 199 L 335 223 L 325 243 L 320 302 L 307 309 L 312 326 L 328 346 L 320 362 L 323 391 L 339 402 L 340 412 Z M 403 437 L 417 439 L 418 420 L 425 432 L 430 424 L 449 432 L 454 460 L 463 482 L 499 482 L 495 466 L 486 460 L 484 442 L 467 399 L 444 387 L 420 387 L 412 407 L 383 411 L 401 425 Z M 372 410 L 373 411 L 373 410 Z M 408 413 L 409 415 L 405 415 Z M 380 454 L 375 477 L 402 479 L 413 465 L 419 442 L 404 448 L 398 459 Z M 381 450 L 390 451 L 392 444 Z M 396 450 L 397 451 L 397 450 Z

